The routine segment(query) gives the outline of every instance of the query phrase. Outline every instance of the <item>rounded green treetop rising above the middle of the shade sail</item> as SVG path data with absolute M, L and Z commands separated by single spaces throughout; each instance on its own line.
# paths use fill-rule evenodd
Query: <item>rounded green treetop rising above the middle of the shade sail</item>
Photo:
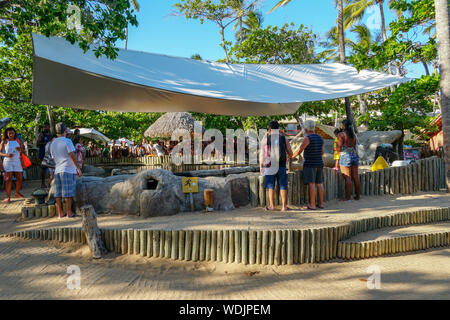
M 300 64 L 315 63 L 314 44 L 317 36 L 307 27 L 285 24 L 256 29 L 231 50 L 236 62 Z

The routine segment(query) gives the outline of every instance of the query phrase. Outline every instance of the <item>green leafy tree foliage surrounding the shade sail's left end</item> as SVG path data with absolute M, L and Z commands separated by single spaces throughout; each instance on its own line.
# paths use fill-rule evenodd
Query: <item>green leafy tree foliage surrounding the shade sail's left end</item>
M 74 10 L 80 8 L 81 24 L 72 28 L 68 23 Z M 14 127 L 28 141 L 33 141 L 36 115 L 40 123 L 47 122 L 45 106 L 31 104 L 32 95 L 32 46 L 31 33 L 61 36 L 71 43 L 78 42 L 83 50 L 95 43 L 96 56 L 117 56 L 115 42 L 125 38 L 125 28 L 136 26 L 128 0 L 104 1 L 37 1 L 10 0 L 0 2 L 0 117 L 11 117 Z M 54 108 L 54 120 L 65 121 L 69 126 L 99 128 L 106 135 L 117 137 L 142 134 L 142 127 L 150 125 L 157 115 L 137 115 Z M 114 120 L 114 118 L 117 118 Z M 109 128 L 108 125 L 110 125 Z M 104 127 L 102 127 L 104 125 Z M 123 134 L 118 132 L 122 128 Z

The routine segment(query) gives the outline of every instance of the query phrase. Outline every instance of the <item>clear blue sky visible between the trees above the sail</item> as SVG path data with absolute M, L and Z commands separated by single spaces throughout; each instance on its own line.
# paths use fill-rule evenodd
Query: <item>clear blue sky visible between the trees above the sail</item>
M 269 25 L 282 26 L 285 23 L 295 23 L 307 26 L 321 37 L 335 24 L 337 9 L 334 0 L 292 0 L 285 7 L 274 12 L 268 11 L 277 0 L 264 0 L 260 7 L 263 13 L 263 27 Z M 129 30 L 128 49 L 167 54 L 179 57 L 191 57 L 198 53 L 203 59 L 215 61 L 223 59 L 224 53 L 220 45 L 220 35 L 217 26 L 205 21 L 186 19 L 176 16 L 173 5 L 175 0 L 139 0 L 140 12 L 137 13 L 139 26 Z M 385 6 L 386 24 L 393 19 L 390 10 Z M 378 25 L 379 11 L 374 8 L 363 22 Z M 372 28 L 375 35 L 379 30 Z M 347 32 L 346 36 L 350 36 Z M 230 27 L 226 39 L 234 40 L 234 31 Z M 123 46 L 123 42 L 118 43 Z M 421 65 L 408 66 L 408 77 L 419 77 L 423 74 Z

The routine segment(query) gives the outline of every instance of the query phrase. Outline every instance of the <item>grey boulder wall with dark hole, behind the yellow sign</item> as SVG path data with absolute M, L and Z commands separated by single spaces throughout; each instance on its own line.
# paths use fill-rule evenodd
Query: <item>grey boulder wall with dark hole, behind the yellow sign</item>
M 199 178 L 199 192 L 193 193 L 194 209 L 205 209 L 205 189 L 214 190 L 215 210 L 234 209 L 231 195 L 231 185 L 235 183 L 233 180 L 222 177 Z M 54 193 L 53 188 L 50 189 L 51 193 Z M 136 175 L 77 178 L 75 202 L 77 206 L 90 204 L 99 213 L 142 217 L 191 211 L 190 196 L 182 191 L 182 178 L 163 169 L 147 170 Z

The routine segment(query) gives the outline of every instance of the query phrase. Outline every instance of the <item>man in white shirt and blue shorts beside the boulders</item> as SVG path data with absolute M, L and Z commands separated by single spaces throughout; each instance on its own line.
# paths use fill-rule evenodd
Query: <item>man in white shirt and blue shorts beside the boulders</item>
M 78 167 L 75 147 L 70 139 L 66 138 L 67 127 L 60 122 L 55 126 L 58 138 L 53 140 L 50 147 L 50 153 L 55 159 L 55 198 L 58 208 L 58 217 L 64 217 L 62 208 L 62 198 L 65 199 L 67 206 L 67 217 L 72 218 L 72 198 L 75 196 L 76 175 L 82 176 Z

